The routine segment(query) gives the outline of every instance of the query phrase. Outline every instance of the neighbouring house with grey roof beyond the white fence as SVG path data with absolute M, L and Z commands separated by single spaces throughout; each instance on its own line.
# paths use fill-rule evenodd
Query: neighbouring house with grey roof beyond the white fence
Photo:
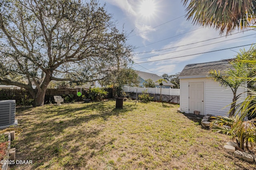
M 156 83 L 157 80 L 161 79 L 160 76 L 158 76 L 156 74 L 149 73 L 149 72 L 142 72 L 142 71 L 137 71 L 137 72 L 138 72 L 138 75 L 140 78 L 140 84 L 139 84 L 140 87 L 144 87 L 143 82 L 145 82 L 145 80 L 151 79 L 155 83 L 156 88 L 160 88 L 159 83 Z M 172 84 L 169 81 L 167 81 L 167 83 L 163 81 L 162 83 L 163 83 L 162 88 L 173 88 L 175 86 L 174 84 Z

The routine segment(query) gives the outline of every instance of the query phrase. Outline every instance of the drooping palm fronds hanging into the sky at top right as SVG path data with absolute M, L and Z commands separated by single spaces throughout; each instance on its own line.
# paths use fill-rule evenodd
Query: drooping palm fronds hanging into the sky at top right
M 256 0 L 182 0 L 186 17 L 194 24 L 212 26 L 226 35 L 255 23 Z

